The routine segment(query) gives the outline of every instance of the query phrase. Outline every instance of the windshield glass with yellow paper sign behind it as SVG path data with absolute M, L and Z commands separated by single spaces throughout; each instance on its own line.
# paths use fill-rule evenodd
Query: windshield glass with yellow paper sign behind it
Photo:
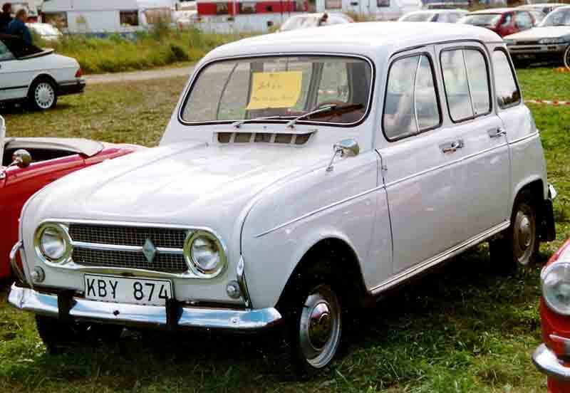
M 192 83 L 185 122 L 234 122 L 258 117 L 350 124 L 366 114 L 372 70 L 361 58 L 280 56 L 217 61 Z M 273 120 L 275 121 L 275 120 Z

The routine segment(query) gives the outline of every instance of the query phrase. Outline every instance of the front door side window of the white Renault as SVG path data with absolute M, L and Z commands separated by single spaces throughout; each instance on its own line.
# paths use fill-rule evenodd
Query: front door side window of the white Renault
M 385 137 L 398 140 L 437 127 L 440 122 L 430 59 L 410 56 L 392 63 L 384 103 Z

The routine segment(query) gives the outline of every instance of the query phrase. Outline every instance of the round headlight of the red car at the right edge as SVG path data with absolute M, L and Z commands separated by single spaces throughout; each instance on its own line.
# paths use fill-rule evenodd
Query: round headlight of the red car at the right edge
M 570 263 L 553 263 L 544 270 L 542 296 L 554 312 L 570 315 Z

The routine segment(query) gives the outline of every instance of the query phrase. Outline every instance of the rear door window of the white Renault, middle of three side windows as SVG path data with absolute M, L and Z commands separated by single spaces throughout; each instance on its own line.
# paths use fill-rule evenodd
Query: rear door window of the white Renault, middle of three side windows
M 480 51 L 443 51 L 441 67 L 451 120 L 469 120 L 491 111 L 487 61 Z

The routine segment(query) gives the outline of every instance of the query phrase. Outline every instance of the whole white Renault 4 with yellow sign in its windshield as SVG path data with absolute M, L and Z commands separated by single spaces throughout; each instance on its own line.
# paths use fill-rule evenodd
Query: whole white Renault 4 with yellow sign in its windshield
M 160 147 L 28 200 L 9 302 L 48 348 L 105 326 L 281 325 L 313 372 L 347 310 L 483 241 L 509 270 L 554 238 L 539 132 L 497 34 L 307 32 L 214 49 Z

